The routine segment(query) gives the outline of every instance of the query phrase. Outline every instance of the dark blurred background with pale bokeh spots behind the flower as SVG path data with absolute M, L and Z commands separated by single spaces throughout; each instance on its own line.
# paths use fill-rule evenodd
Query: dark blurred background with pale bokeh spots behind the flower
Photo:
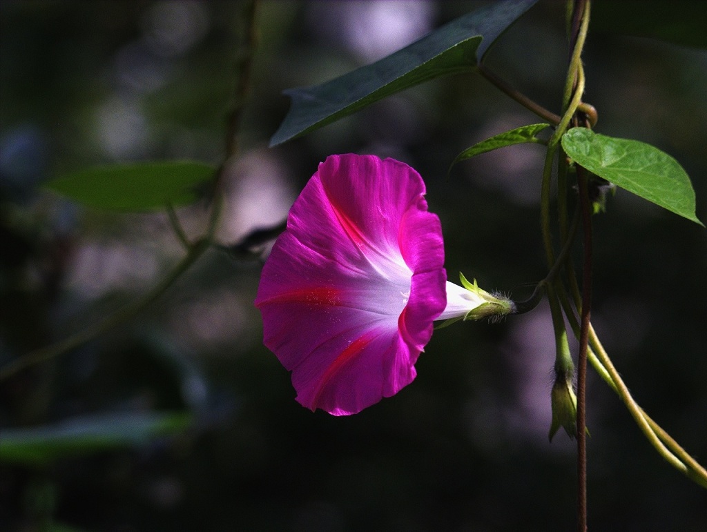
M 392 156 L 426 179 L 450 279 L 463 271 L 487 290 L 527 297 L 545 272 L 542 148 L 481 155 L 446 177 L 467 146 L 540 122 L 479 76 L 426 83 L 267 148 L 288 109 L 281 90 L 378 59 L 483 4 L 262 2 L 219 240 L 278 223 L 331 153 Z M 704 16 L 701 2 L 693 8 Z M 243 13 L 238 1 L 0 2 L 1 364 L 94 323 L 180 259 L 165 215 L 91 211 L 40 185 L 99 163 L 220 164 Z M 564 3 L 541 0 L 487 57 L 555 111 L 563 23 Z M 677 158 L 707 220 L 707 53 L 593 31 L 585 65 L 597 131 Z M 205 213 L 179 211 L 190 235 Z M 0 464 L 0 528 L 575 528 L 574 443 L 563 432 L 547 439 L 554 345 L 544 305 L 436 332 L 413 384 L 334 418 L 294 401 L 288 373 L 262 345 L 252 305 L 261 265 L 209 252 L 129 324 L 0 383 L 0 445 L 8 427 L 77 415 L 194 413 L 189 430 L 139 447 Z M 695 223 L 624 191 L 595 217 L 595 327 L 638 402 L 703 464 L 706 271 L 706 232 Z M 703 530 L 707 492 L 668 466 L 589 375 L 590 528 Z

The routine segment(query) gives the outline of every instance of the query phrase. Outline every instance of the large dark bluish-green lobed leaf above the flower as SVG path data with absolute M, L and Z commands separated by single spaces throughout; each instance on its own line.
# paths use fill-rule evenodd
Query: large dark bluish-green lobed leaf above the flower
M 491 2 L 373 64 L 321 85 L 285 90 L 292 106 L 270 146 L 331 124 L 423 81 L 473 71 L 496 37 L 536 2 Z

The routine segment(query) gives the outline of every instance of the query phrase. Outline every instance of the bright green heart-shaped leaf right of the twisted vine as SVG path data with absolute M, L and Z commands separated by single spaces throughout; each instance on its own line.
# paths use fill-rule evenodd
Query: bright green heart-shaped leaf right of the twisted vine
M 677 160 L 658 148 L 579 127 L 562 136 L 562 148 L 578 165 L 617 187 L 703 225 L 695 215 L 690 178 Z

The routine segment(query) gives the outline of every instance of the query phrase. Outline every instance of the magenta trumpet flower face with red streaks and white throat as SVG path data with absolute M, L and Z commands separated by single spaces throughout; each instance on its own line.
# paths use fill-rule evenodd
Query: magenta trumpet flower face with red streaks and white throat
M 402 162 L 332 155 L 288 215 L 255 301 L 297 400 L 361 411 L 415 377 L 446 304 L 439 219 Z

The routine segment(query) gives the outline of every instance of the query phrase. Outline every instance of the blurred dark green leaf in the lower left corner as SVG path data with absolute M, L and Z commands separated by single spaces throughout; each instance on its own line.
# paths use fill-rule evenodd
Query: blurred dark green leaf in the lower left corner
M 184 430 L 186 412 L 87 415 L 40 427 L 3 428 L 0 462 L 40 464 L 66 456 L 146 444 Z

